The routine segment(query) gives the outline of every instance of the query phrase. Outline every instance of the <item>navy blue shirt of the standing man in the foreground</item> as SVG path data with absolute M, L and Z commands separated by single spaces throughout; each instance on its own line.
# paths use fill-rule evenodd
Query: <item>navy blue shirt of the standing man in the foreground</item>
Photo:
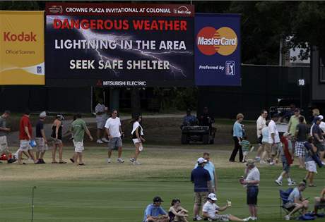
M 208 192 L 208 181 L 211 181 L 210 173 L 202 166 L 198 166 L 191 172 L 194 192 Z

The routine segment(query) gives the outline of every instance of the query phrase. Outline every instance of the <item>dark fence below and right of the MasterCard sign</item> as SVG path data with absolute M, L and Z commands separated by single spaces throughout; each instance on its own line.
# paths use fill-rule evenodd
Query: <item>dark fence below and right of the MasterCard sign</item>
M 300 106 L 298 79 L 305 79 L 302 88 L 302 108 L 310 103 L 309 67 L 242 66 L 241 87 L 199 87 L 198 111 L 208 106 L 217 118 L 235 118 L 243 113 L 246 119 L 256 119 L 261 109 L 277 106 L 286 99 Z

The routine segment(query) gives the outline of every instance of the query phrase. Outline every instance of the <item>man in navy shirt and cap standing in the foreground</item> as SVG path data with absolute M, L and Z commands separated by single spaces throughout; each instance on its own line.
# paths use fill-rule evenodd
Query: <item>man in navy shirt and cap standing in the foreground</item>
M 198 167 L 191 171 L 191 182 L 194 183 L 194 209 L 193 221 L 201 221 L 199 215 L 201 206 L 206 202 L 208 193 L 212 190 L 210 173 L 204 168 L 206 160 L 200 157 L 197 160 Z

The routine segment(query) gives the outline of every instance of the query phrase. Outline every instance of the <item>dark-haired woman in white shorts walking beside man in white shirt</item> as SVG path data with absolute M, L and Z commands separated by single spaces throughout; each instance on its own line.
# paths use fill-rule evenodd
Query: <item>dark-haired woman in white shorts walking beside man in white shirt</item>
M 133 157 L 130 158 L 130 161 L 134 165 L 139 165 L 140 163 L 137 161 L 138 155 L 143 150 L 143 144 L 142 142 L 145 142 L 143 138 L 143 128 L 140 125 L 142 120 L 142 116 L 136 116 L 132 119 L 131 124 L 133 123 L 132 128 L 132 141 L 134 142 L 134 145 L 136 146 L 136 152 Z

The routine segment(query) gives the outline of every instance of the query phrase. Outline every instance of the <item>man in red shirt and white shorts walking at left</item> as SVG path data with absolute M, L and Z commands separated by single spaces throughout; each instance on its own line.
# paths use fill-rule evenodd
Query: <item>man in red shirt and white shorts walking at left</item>
M 32 152 L 32 147 L 30 146 L 30 140 L 32 140 L 32 124 L 30 123 L 30 111 L 25 111 L 23 116 L 20 118 L 19 122 L 19 140 L 20 147 L 18 151 L 18 164 L 25 164 L 22 161 L 23 152 L 28 152 L 34 164 L 37 163 L 37 159 Z

